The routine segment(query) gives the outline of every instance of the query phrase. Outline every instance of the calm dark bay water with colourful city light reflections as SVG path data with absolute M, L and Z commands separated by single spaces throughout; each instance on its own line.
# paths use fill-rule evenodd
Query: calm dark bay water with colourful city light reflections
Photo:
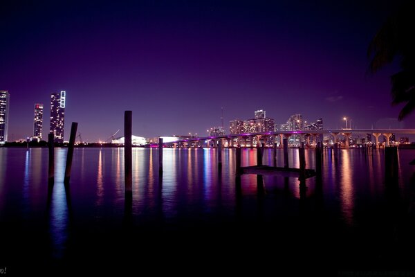
M 234 150 L 223 150 L 221 170 L 216 151 L 165 149 L 160 177 L 158 150 L 133 148 L 126 204 L 122 148 L 75 149 L 68 188 L 66 149 L 57 148 L 49 190 L 46 149 L 0 148 L 0 267 L 120 273 L 156 259 L 172 271 L 187 263 L 232 272 L 413 269 L 414 150 L 399 150 L 397 184 L 385 184 L 382 150 L 325 150 L 322 178 L 307 179 L 305 195 L 295 178 L 264 176 L 257 186 L 256 175 L 243 175 L 237 186 Z M 256 150 L 242 150 L 242 166 L 255 164 Z M 264 164 L 273 165 L 272 150 Z M 315 168 L 313 150 L 306 167 Z

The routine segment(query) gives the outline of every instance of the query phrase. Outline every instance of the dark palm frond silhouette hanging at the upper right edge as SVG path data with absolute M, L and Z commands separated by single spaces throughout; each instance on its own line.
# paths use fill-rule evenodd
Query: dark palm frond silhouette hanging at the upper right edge
M 405 103 L 398 119 L 415 109 L 415 1 L 407 1 L 380 28 L 368 49 L 369 71 L 375 73 L 400 59 L 398 73 L 391 76 L 392 105 Z

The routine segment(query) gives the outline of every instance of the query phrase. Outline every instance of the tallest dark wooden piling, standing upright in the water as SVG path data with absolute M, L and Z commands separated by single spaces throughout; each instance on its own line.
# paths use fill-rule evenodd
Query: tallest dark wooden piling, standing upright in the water
M 133 156 L 132 156 L 132 120 L 133 112 L 124 112 L 124 176 L 125 176 L 125 193 L 133 191 Z

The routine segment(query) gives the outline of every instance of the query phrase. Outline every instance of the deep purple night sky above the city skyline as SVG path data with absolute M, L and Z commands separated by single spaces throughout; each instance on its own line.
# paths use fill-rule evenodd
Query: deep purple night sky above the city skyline
M 265 109 L 276 123 L 412 128 L 391 107 L 391 65 L 366 74 L 367 46 L 397 1 L 3 1 L 0 89 L 9 141 L 33 134 L 33 105 L 66 91 L 66 132 L 107 140 L 206 134 Z M 10 3 L 9 3 L 10 2 Z M 17 2 L 17 3 L 16 3 Z M 333 3 L 332 3 L 333 2 Z M 353 3 L 352 3 L 353 2 Z

